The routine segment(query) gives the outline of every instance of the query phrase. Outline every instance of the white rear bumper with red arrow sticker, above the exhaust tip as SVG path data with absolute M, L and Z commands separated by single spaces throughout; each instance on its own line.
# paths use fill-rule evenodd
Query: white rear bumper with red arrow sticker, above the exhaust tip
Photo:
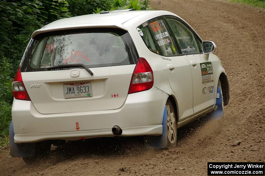
M 167 98 L 166 93 L 153 87 L 129 94 L 119 109 L 60 114 L 41 114 L 31 101 L 14 99 L 14 142 L 114 136 L 111 129 L 115 125 L 122 128 L 121 136 L 159 136 L 162 135 L 161 124 Z M 76 122 L 79 130 L 76 130 Z

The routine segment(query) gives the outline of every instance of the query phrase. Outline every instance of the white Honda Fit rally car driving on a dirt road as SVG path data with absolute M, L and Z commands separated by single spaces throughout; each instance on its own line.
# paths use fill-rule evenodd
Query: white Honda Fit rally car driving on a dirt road
M 30 163 L 56 140 L 146 136 L 223 114 L 229 82 L 216 45 L 167 11 L 65 18 L 33 32 L 12 83 L 10 152 Z

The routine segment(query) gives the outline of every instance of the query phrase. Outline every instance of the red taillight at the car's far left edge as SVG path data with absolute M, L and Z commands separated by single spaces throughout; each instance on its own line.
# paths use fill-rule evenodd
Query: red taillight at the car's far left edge
M 18 100 L 30 101 L 29 95 L 28 95 L 26 88 L 24 86 L 24 83 L 22 81 L 20 67 L 18 68 L 16 76 L 15 76 L 14 81 L 12 83 L 12 91 L 13 91 L 14 98 L 16 98 Z

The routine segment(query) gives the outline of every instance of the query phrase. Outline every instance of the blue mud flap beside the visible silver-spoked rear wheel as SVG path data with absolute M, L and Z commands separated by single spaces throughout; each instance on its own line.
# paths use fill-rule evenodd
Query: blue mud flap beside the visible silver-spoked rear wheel
M 163 114 L 163 134 L 161 136 L 145 136 L 144 145 L 155 149 L 163 149 L 167 147 L 167 114 L 166 106 Z

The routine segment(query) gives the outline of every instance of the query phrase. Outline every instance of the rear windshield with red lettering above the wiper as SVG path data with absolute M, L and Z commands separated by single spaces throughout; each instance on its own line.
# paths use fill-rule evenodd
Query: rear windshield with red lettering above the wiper
M 24 72 L 45 71 L 62 64 L 84 64 L 94 68 L 136 64 L 138 58 L 130 35 L 123 30 L 56 31 L 30 41 L 21 67 Z

